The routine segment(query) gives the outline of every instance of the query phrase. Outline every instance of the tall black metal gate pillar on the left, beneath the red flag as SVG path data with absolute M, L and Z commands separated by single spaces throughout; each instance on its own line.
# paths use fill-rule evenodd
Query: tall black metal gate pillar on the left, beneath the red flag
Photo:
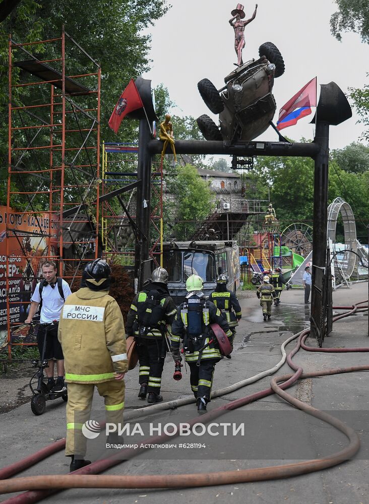
M 137 187 L 136 223 L 141 231 L 141 241 L 136 242 L 135 276 L 139 277 L 140 266 L 149 259 L 150 246 L 150 213 L 151 213 L 151 154 L 148 144 L 151 132 L 146 117 L 140 119 L 139 150 L 137 178 L 141 184 Z M 138 288 L 141 288 L 142 279 L 139 278 Z

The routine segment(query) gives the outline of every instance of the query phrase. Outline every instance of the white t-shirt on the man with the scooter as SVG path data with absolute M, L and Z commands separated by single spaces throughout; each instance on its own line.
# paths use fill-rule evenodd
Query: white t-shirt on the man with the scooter
M 67 297 L 72 294 L 72 291 L 65 280 L 61 280 L 61 286 L 63 287 L 64 299 L 67 299 Z M 44 286 L 42 289 L 41 324 L 49 324 L 54 320 L 60 319 L 61 309 L 64 306 L 64 299 L 60 297 L 57 283 L 55 283 L 54 288 L 49 284 Z M 36 285 L 31 301 L 35 301 L 36 303 L 41 302 L 40 282 Z

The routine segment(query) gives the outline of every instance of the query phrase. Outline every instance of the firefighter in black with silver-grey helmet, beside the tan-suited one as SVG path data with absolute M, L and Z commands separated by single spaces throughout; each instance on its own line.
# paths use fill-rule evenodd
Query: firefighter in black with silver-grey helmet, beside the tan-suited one
M 160 395 L 161 375 L 168 350 L 165 331 L 177 311 L 169 296 L 167 282 L 167 271 L 156 268 L 151 274 L 151 282 L 135 296 L 127 316 L 127 334 L 136 339 L 140 361 L 138 396 L 146 399 L 149 394 L 148 403 L 163 400 Z

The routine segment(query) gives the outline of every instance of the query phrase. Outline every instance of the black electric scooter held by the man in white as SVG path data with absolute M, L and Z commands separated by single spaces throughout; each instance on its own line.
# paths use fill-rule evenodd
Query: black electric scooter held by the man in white
M 45 412 L 46 401 L 52 401 L 61 397 L 63 401 L 68 401 L 68 392 L 64 390 L 63 392 L 51 392 L 47 389 L 47 385 L 43 381 L 45 367 L 48 367 L 49 362 L 45 359 L 46 350 L 46 339 L 48 332 L 57 325 L 57 321 L 54 320 L 50 324 L 45 324 L 45 338 L 43 341 L 41 359 L 35 359 L 32 361 L 33 367 L 38 367 L 38 371 L 32 376 L 29 387 L 33 394 L 31 399 L 31 410 L 35 415 L 42 415 Z

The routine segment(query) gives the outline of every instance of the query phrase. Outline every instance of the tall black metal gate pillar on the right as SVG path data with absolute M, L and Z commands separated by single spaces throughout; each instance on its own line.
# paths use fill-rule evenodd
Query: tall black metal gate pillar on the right
M 314 143 L 320 147 L 315 157 L 314 173 L 314 212 L 313 212 L 313 267 L 311 301 L 311 336 L 317 340 L 322 328 L 324 307 L 323 275 L 326 268 L 327 249 L 327 207 L 328 207 L 328 154 L 329 123 L 317 121 Z M 332 284 L 330 284 L 332 289 Z

